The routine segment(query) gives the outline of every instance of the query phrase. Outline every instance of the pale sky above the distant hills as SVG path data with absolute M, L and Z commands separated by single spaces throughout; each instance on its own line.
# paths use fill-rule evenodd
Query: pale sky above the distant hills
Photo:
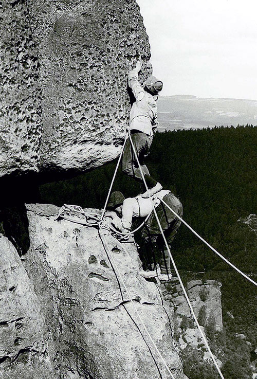
M 137 0 L 162 95 L 257 100 L 256 0 Z

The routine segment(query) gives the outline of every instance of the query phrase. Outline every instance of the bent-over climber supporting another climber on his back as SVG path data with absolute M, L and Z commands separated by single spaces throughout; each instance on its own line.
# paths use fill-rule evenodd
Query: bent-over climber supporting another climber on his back
M 182 216 L 182 204 L 169 190 L 160 190 L 151 197 L 164 236 L 170 247 L 181 221 L 161 200 L 163 199 L 180 217 Z M 134 236 L 141 252 L 145 255 L 143 259 L 145 269 L 140 270 L 139 274 L 144 278 L 157 277 L 160 280 L 169 280 L 172 276 L 171 260 L 155 218 L 150 198 L 143 198 L 141 195 L 124 198 L 120 191 L 115 191 L 109 198 L 107 209 L 105 216 L 111 219 L 111 224 L 116 229 L 125 233 L 131 229 L 135 230 L 142 219 L 151 213 L 143 227 Z

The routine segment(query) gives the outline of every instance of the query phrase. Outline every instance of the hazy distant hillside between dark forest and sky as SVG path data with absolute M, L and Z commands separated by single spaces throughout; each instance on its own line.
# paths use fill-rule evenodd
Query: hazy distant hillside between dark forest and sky
M 158 100 L 160 132 L 202 129 L 221 125 L 256 124 L 257 101 L 201 99 L 192 95 L 163 96 Z

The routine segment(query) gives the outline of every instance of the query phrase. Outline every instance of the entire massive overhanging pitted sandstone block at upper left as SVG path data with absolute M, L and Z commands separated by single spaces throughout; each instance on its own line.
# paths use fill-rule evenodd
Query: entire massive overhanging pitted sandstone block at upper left
M 0 9 L 0 175 L 115 158 L 130 109 L 127 72 L 150 58 L 136 1 L 4 0 Z

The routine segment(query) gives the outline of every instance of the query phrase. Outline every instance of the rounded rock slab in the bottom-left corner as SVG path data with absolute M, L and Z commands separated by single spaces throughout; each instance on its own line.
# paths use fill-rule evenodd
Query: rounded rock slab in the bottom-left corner
M 0 283 L 0 378 L 57 379 L 38 298 L 17 251 L 2 234 Z

